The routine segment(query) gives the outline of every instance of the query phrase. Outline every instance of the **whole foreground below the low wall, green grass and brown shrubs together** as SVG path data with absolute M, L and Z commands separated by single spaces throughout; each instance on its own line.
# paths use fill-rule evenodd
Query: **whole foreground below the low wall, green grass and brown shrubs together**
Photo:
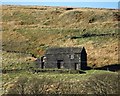
M 112 76 L 111 79 L 108 79 L 109 76 Z M 116 72 L 99 70 L 89 70 L 86 74 L 21 71 L 3 74 L 3 88 L 5 94 L 104 94 L 102 90 L 105 94 L 116 94 L 117 76 Z

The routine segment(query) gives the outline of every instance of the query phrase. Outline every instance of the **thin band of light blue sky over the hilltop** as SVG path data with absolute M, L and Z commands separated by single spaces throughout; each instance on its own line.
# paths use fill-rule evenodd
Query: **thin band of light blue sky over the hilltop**
M 2 2 L 2 5 L 119 9 L 120 2 Z

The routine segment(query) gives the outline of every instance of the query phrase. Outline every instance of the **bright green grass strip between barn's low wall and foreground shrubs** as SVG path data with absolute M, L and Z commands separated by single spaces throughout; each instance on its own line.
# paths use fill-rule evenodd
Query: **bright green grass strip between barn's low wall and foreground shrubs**
M 86 74 L 68 74 L 68 73 L 43 73 L 43 72 L 39 72 L 39 73 L 32 73 L 31 71 L 20 71 L 20 72 L 15 72 L 15 73 L 7 73 L 7 74 L 3 74 L 3 82 L 7 83 L 10 82 L 11 80 L 14 80 L 16 77 L 19 76 L 27 76 L 27 77 L 46 77 L 46 78 L 51 78 L 53 80 L 57 80 L 59 81 L 59 79 L 63 79 L 64 81 L 76 81 L 76 80 L 85 80 L 85 78 L 89 78 L 90 76 L 92 76 L 93 74 L 102 74 L 102 73 L 114 73 L 114 72 L 110 72 L 110 71 L 103 71 L 103 70 L 89 70 L 86 71 Z

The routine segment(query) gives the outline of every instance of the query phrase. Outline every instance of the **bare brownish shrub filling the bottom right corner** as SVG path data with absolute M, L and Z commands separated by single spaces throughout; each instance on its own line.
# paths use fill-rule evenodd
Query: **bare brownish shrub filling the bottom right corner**
M 118 94 L 118 74 L 95 74 L 85 83 L 88 93 Z

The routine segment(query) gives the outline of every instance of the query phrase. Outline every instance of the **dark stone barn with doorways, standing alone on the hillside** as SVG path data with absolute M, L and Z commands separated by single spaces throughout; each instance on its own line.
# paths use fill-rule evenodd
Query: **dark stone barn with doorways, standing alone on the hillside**
M 49 48 L 40 59 L 40 67 L 85 70 L 87 53 L 84 47 Z

